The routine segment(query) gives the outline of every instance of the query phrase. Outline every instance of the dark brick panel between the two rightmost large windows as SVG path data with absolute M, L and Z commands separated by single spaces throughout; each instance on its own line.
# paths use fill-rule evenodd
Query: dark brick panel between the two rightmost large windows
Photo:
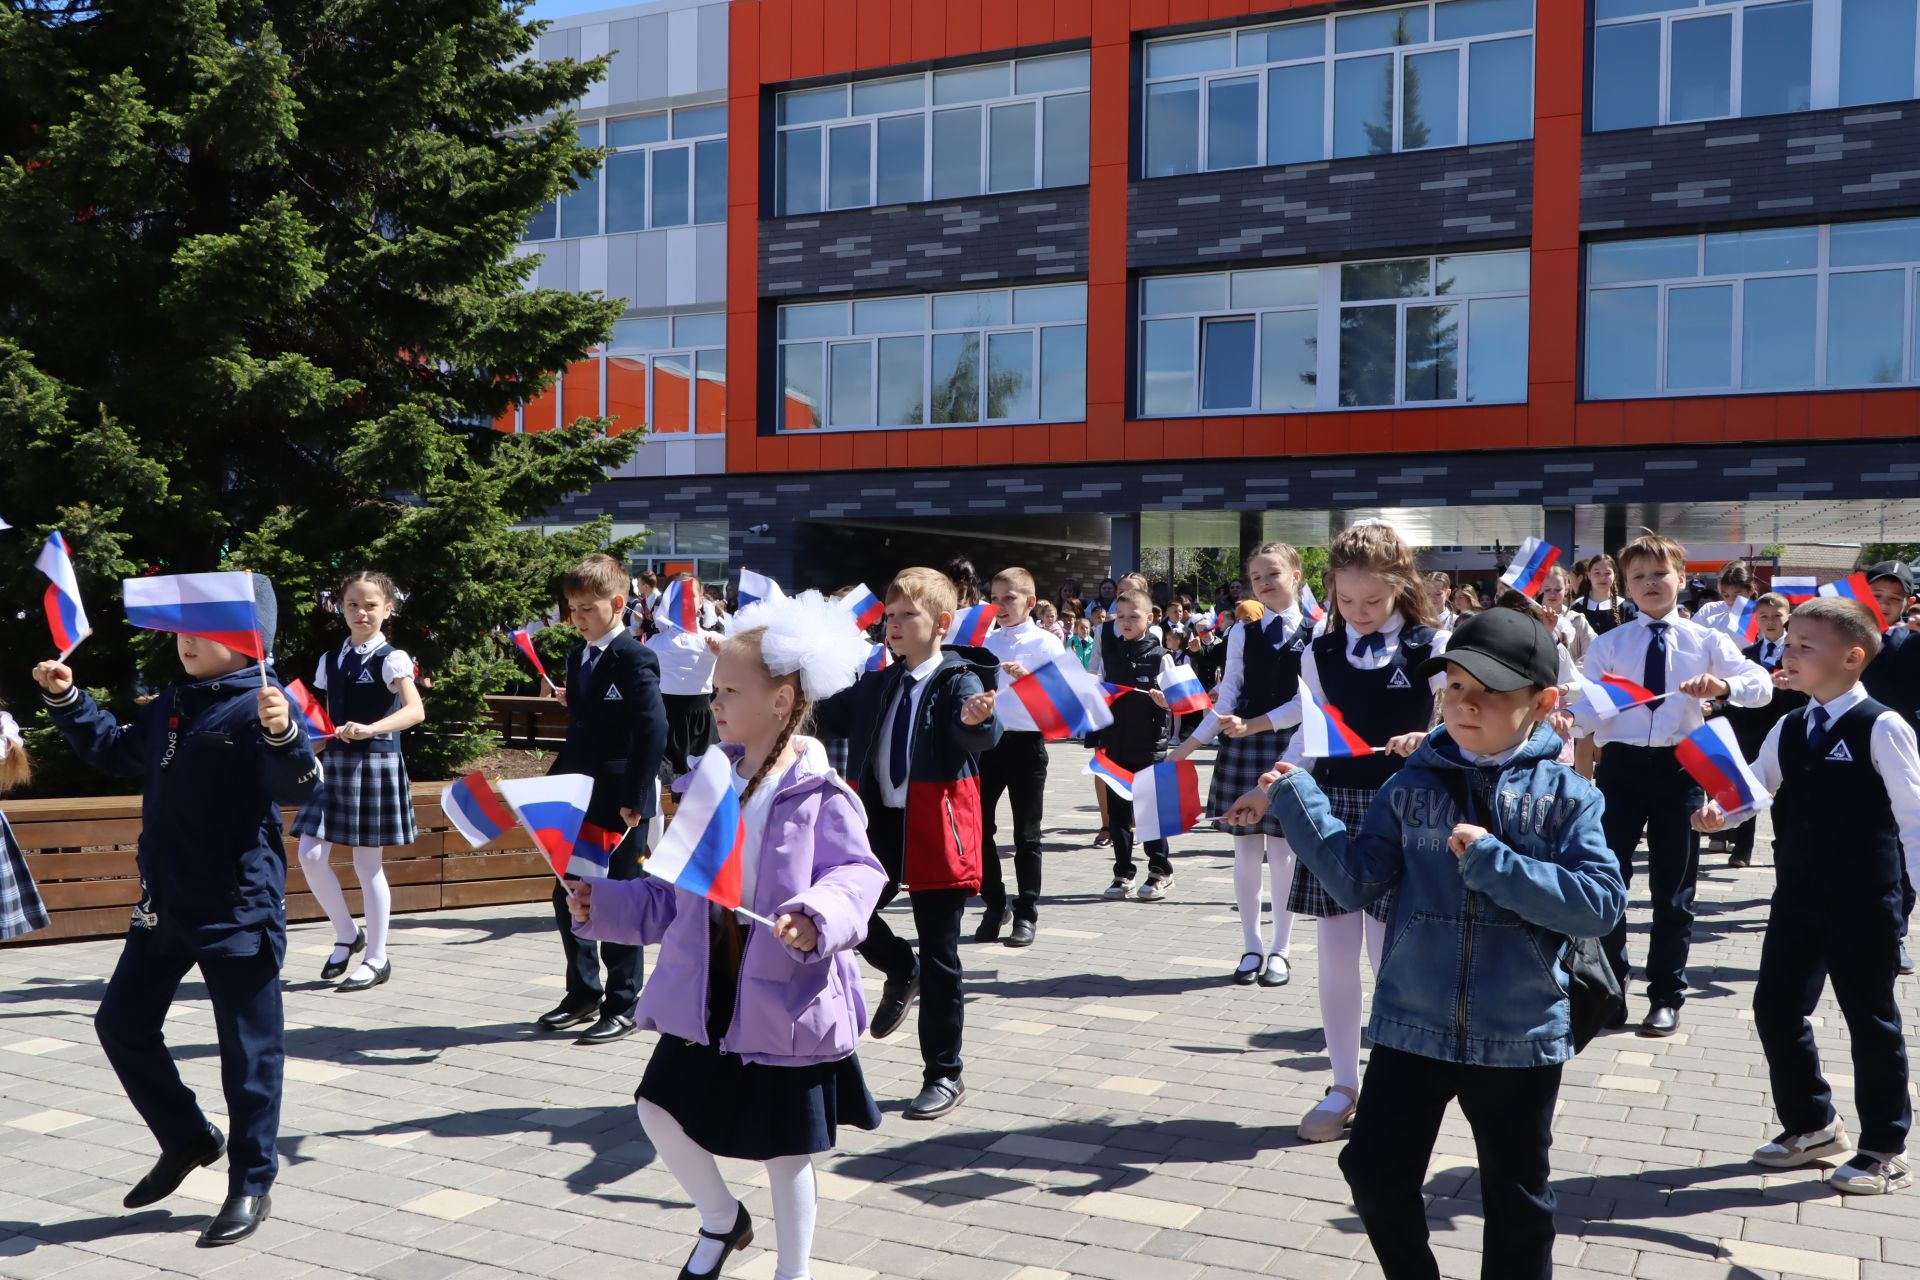
M 1920 102 L 1588 134 L 1588 232 L 1805 221 L 1920 205 Z

